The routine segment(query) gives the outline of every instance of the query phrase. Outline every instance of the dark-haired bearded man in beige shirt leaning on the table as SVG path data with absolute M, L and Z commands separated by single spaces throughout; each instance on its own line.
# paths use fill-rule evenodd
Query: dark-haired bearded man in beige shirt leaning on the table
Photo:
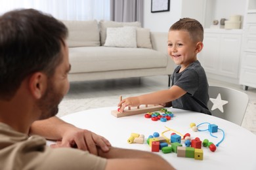
M 104 137 L 54 117 L 69 89 L 67 35 L 64 24 L 37 10 L 0 16 L 1 169 L 172 169 L 156 154 L 114 148 Z M 78 147 L 91 153 L 47 147 L 45 138 L 28 135 L 35 133 L 62 139 L 60 146 L 78 146 L 72 135 L 79 133 L 84 146 Z

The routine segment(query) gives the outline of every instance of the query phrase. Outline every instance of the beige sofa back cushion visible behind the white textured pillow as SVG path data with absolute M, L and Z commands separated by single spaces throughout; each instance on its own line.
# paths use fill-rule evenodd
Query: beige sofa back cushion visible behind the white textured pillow
M 100 27 L 100 44 L 103 46 L 106 41 L 106 28 L 107 27 L 123 27 L 123 26 L 135 26 L 141 27 L 140 22 L 114 22 L 114 21 L 106 21 L 100 20 L 98 22 Z

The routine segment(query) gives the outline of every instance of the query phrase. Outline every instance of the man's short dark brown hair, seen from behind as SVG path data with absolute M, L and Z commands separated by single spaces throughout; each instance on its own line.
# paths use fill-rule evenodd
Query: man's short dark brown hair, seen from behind
M 52 76 L 63 59 L 67 36 L 62 22 L 38 10 L 12 10 L 0 16 L 0 99 L 11 99 L 32 73 Z

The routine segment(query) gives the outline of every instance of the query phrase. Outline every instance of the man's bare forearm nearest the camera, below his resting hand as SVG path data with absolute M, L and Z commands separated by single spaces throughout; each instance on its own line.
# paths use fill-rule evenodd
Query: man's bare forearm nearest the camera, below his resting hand
M 152 152 L 112 148 L 108 152 L 99 150 L 98 155 L 107 158 L 108 169 L 174 169 L 167 161 Z

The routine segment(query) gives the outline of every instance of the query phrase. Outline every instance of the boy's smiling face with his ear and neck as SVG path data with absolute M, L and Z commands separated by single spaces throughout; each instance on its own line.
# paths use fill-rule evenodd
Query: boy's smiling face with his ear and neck
M 168 54 L 175 64 L 181 65 L 181 71 L 196 61 L 196 54 L 202 49 L 202 42 L 194 42 L 188 31 L 169 31 Z

